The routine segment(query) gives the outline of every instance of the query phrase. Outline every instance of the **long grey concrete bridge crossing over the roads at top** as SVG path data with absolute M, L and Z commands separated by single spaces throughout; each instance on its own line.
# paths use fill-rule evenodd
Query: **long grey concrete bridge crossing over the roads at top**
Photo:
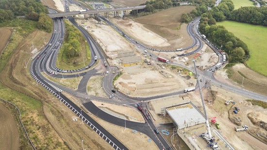
M 108 9 L 95 9 L 95 10 L 87 10 L 84 12 L 76 11 L 76 12 L 64 12 L 64 13 L 53 13 L 48 14 L 51 18 L 54 17 L 63 17 L 63 16 L 73 16 L 73 15 L 90 15 L 90 14 L 98 14 L 98 13 L 105 13 L 108 14 L 109 12 L 115 12 L 115 15 L 118 15 L 119 11 L 123 11 L 124 15 L 126 11 L 133 10 L 133 14 L 137 14 L 138 10 L 145 9 L 146 5 L 142 6 L 129 6 L 129 7 L 120 7 L 120 8 L 108 8 Z

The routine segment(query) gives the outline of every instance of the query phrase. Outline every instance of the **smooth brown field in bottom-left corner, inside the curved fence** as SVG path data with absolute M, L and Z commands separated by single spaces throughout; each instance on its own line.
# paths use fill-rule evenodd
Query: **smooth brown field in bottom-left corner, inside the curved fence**
M 0 146 L 1 150 L 18 150 L 17 125 L 10 111 L 0 103 Z

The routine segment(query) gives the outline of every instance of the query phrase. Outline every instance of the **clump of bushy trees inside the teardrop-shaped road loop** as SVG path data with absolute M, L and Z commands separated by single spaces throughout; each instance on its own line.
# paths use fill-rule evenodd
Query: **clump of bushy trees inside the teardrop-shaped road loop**
M 73 58 L 80 56 L 81 54 L 81 43 L 79 41 L 83 40 L 83 35 L 81 32 L 66 22 L 66 34 L 65 41 L 66 45 L 64 46 L 64 52 L 66 52 L 68 58 Z

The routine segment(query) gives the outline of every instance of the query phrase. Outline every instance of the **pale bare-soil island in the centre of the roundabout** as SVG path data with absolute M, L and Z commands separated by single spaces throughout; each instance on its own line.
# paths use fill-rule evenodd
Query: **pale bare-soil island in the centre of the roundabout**
M 122 68 L 123 75 L 115 81 L 114 85 L 124 93 L 131 92 L 130 95 L 134 97 L 147 97 L 181 91 L 184 90 L 184 87 L 188 87 L 190 83 L 193 83 L 193 85 L 196 83 L 194 78 L 184 80 L 184 77 L 171 72 L 168 68 L 162 69 L 155 64 L 150 67 L 145 63 Z

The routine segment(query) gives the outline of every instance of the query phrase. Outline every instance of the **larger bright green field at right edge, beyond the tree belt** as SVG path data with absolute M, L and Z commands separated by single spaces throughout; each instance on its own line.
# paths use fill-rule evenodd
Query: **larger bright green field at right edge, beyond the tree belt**
M 217 25 L 224 26 L 245 42 L 250 49 L 251 56 L 246 63 L 252 70 L 267 75 L 267 27 L 235 21 L 217 22 Z

